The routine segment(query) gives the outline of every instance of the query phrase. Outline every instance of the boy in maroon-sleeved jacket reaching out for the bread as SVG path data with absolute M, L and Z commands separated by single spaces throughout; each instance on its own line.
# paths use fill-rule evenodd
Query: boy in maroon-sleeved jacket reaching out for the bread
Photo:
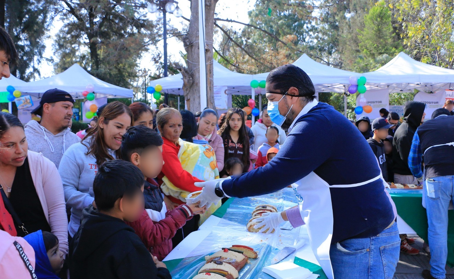
M 129 128 L 121 144 L 122 158 L 137 166 L 145 179 L 145 209 L 138 220 L 126 224 L 136 231 L 158 260 L 163 260 L 172 251 L 172 238 L 177 230 L 192 215 L 202 214 L 205 210 L 197 204 L 182 204 L 167 210 L 159 185 L 153 179 L 163 166 L 162 145 L 163 139 L 156 131 L 141 125 Z

